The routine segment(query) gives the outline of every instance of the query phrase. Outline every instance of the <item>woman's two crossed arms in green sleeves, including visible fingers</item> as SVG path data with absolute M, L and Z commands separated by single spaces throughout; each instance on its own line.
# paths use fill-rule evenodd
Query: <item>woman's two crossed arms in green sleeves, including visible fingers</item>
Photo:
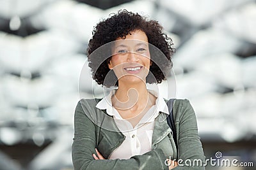
M 179 134 L 179 159 L 201 159 L 204 163 L 204 152 L 197 132 L 195 111 L 187 99 L 178 107 L 182 112 L 177 118 L 177 134 Z M 204 167 L 177 166 L 170 162 L 168 167 L 164 164 L 166 156 L 159 148 L 143 155 L 136 155 L 130 159 L 104 159 L 96 152 L 96 129 L 93 122 L 86 116 L 81 106 L 77 104 L 75 111 L 75 134 L 72 145 L 72 160 L 74 169 L 204 169 Z M 173 166 L 174 165 L 174 166 Z

